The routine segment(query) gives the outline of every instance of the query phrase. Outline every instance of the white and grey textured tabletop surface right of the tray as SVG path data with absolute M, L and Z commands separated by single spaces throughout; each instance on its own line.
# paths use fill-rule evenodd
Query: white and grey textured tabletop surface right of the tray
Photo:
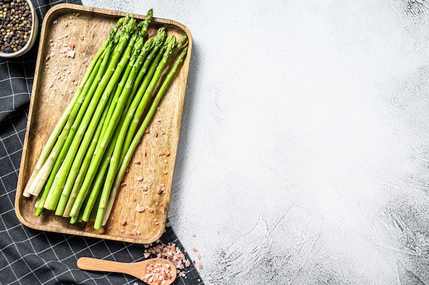
M 206 284 L 429 283 L 426 1 L 83 2 L 191 30 L 169 219 Z

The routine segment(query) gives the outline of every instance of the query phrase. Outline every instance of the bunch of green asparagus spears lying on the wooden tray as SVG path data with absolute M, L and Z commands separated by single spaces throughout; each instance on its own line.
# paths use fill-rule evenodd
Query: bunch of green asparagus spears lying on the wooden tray
M 143 21 L 120 18 L 88 65 L 23 192 L 70 223 L 107 221 L 128 164 L 186 56 L 187 36 L 164 27 L 149 37 Z M 173 64 L 168 64 L 173 59 Z

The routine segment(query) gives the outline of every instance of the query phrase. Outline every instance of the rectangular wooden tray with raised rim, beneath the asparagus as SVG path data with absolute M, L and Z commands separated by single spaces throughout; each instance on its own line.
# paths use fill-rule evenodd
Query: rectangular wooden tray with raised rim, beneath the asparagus
M 22 195 L 47 138 L 73 97 L 72 91 L 77 88 L 75 82 L 78 84 L 83 77 L 86 64 L 107 38 L 110 28 L 126 14 L 60 4 L 49 10 L 44 18 L 15 199 L 16 215 L 28 227 L 130 243 L 152 243 L 164 232 L 192 48 L 191 33 L 175 21 L 154 17 L 149 25 L 149 36 L 153 36 L 161 26 L 178 39 L 186 34 L 188 54 L 164 94 L 159 110 L 148 127 L 149 132 L 143 136 L 136 149 L 129 171 L 123 179 L 127 186 L 119 191 L 108 223 L 101 230 L 95 230 L 92 222 L 71 224 L 68 218 L 56 216 L 47 210 L 35 216 L 36 197 L 26 198 Z M 137 14 L 130 15 L 136 19 L 145 18 Z M 68 43 L 74 45 L 74 58 L 64 56 L 64 47 Z M 48 60 L 47 55 L 50 56 Z M 169 151 L 170 155 L 158 156 L 160 151 Z M 133 163 L 136 160 L 141 163 Z M 143 180 L 137 181 L 136 177 L 140 175 Z M 147 184 L 147 191 L 143 190 L 142 184 Z M 165 185 L 167 193 L 156 193 L 156 187 L 160 184 Z M 154 212 L 137 212 L 137 203 L 151 207 Z M 122 219 L 126 221 L 125 225 L 121 224 Z M 133 230 L 134 234 L 130 235 Z

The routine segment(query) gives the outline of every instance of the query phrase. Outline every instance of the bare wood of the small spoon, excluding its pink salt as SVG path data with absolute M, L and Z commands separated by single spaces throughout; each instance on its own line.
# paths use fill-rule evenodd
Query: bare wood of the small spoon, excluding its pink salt
M 171 277 L 169 279 L 167 277 L 165 280 L 166 283 L 164 284 L 169 285 L 174 282 L 175 277 L 177 275 L 175 266 L 173 263 L 171 263 L 171 261 L 165 258 L 151 258 L 140 262 L 132 262 L 132 263 L 102 260 L 97 258 L 79 258 L 77 260 L 77 267 L 79 267 L 79 269 L 90 270 L 90 271 L 125 273 L 128 275 L 137 277 L 138 279 L 143 280 L 147 284 L 156 284 L 156 282 L 154 281 L 149 282 L 149 280 L 143 279 L 147 274 L 146 269 L 149 266 L 149 264 L 151 264 L 152 267 L 154 267 L 153 264 L 158 264 L 158 265 L 168 264 L 169 266 L 168 271 L 169 273 L 171 273 Z

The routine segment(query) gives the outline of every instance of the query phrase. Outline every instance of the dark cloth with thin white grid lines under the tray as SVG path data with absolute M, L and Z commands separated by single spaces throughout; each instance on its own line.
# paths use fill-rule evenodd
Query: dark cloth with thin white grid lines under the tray
M 33 1 L 40 23 L 49 8 L 64 2 L 82 4 Z M 36 53 L 37 45 L 20 58 L 0 59 L 0 284 L 143 284 L 129 275 L 82 271 L 76 265 L 82 256 L 144 260 L 143 245 L 41 232 L 22 225 L 16 217 L 14 199 Z M 175 243 L 189 259 L 171 227 L 160 242 Z M 186 278 L 177 278 L 174 284 L 203 284 L 193 264 L 185 272 Z

